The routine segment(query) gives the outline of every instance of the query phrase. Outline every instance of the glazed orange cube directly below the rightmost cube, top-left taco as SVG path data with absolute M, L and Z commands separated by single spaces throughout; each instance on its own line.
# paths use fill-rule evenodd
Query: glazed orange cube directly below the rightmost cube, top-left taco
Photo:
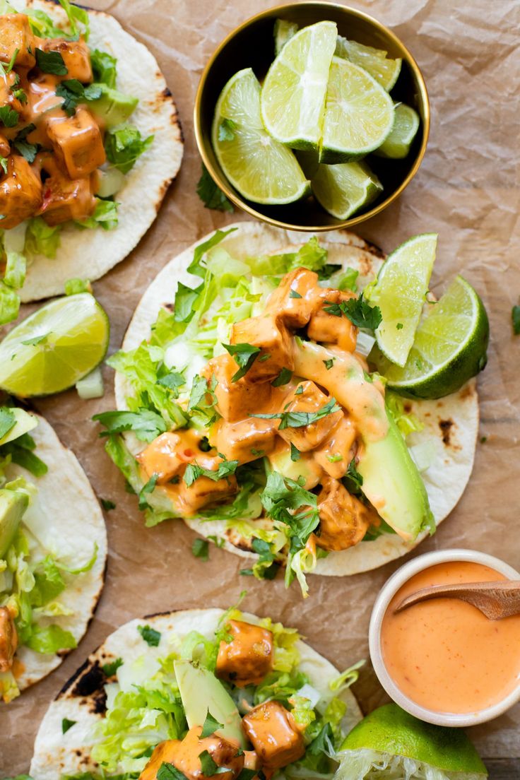
M 69 179 L 58 168 L 51 155 L 41 158 L 41 168 L 49 174 L 43 188 L 43 203 L 39 214 L 48 225 L 61 225 L 69 219 L 87 219 L 96 207 L 94 177 Z

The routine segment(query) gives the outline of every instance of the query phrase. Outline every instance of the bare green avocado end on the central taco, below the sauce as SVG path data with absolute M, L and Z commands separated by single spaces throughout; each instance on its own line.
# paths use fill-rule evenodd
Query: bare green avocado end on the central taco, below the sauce
M 365 441 L 357 469 L 362 490 L 380 516 L 405 541 L 434 523 L 428 495 L 416 464 L 391 413 L 383 439 Z

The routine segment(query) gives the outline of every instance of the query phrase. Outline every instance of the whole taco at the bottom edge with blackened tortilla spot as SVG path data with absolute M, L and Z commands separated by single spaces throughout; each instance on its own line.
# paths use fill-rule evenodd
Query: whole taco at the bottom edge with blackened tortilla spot
M 295 629 L 238 608 L 132 620 L 52 702 L 30 775 L 331 777 L 362 717 L 358 667 L 340 675 Z

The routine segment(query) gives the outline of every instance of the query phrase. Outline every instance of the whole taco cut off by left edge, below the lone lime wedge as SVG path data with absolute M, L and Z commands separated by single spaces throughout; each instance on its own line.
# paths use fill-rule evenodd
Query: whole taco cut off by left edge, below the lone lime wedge
M 9 702 L 87 631 L 107 534 L 83 469 L 43 417 L 2 406 L 0 433 L 0 699 Z

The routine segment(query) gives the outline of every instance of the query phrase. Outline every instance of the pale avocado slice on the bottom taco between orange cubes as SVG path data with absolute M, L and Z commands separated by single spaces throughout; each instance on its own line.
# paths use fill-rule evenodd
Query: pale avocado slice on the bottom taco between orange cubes
M 218 734 L 234 739 L 242 749 L 246 748 L 239 711 L 215 675 L 190 661 L 174 661 L 173 667 L 189 728 L 204 725 L 209 712 L 223 724 L 222 729 L 217 729 Z

